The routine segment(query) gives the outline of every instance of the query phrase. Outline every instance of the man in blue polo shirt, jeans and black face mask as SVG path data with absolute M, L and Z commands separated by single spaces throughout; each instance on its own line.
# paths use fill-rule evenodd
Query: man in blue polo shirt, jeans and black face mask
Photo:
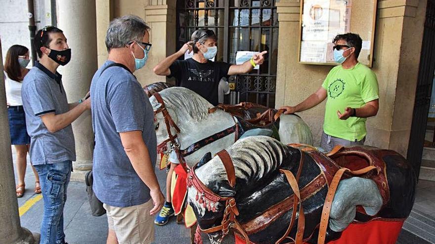
M 60 29 L 46 26 L 39 30 L 35 47 L 40 62 L 24 77 L 21 95 L 31 137 L 30 159 L 44 197 L 41 244 L 64 244 L 63 208 L 76 160 L 71 123 L 90 109 L 90 99 L 67 102 L 62 75 L 56 70 L 70 61 L 71 49 Z

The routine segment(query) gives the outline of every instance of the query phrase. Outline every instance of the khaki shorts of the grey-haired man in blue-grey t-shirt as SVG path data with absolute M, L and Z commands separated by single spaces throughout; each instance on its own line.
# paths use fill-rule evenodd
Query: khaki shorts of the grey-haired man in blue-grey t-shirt
M 103 204 L 107 211 L 109 229 L 116 234 L 119 244 L 151 244 L 154 242 L 154 217 L 149 211 L 153 201 L 126 207 L 112 207 Z

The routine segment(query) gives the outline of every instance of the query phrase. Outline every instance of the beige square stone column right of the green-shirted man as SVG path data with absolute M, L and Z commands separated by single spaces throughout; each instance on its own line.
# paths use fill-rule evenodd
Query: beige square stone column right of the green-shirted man
M 406 157 L 414 110 L 427 1 L 378 2 L 372 70 L 379 112 L 367 120 L 366 143 Z

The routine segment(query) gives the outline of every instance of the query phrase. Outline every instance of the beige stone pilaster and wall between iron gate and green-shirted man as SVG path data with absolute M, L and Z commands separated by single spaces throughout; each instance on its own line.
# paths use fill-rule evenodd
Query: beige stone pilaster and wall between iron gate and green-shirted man
M 279 33 L 275 107 L 297 105 L 322 85 L 331 66 L 298 63 L 300 0 L 280 0 L 276 3 Z M 309 125 L 314 145 L 320 144 L 324 105 L 298 113 Z

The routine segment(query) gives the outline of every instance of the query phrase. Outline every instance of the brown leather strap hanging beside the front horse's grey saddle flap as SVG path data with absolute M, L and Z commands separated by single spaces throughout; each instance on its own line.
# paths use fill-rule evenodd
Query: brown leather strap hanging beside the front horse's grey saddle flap
M 365 174 L 372 170 L 378 170 L 375 166 L 368 166 L 366 168 L 363 168 L 361 170 L 357 171 L 351 171 L 347 168 L 341 168 L 339 169 L 334 177 L 332 178 L 331 183 L 329 184 L 328 193 L 326 194 L 325 203 L 323 204 L 322 209 L 322 215 L 320 218 L 320 227 L 319 227 L 319 237 L 317 239 L 317 244 L 324 244 L 325 238 L 326 238 L 326 229 L 328 227 L 328 221 L 329 221 L 329 213 L 331 212 L 331 206 L 332 202 L 334 200 L 335 192 L 337 191 L 338 184 L 340 183 L 340 179 L 342 178 L 343 174 L 345 172 L 350 172 L 351 174 L 358 175 L 358 174 Z

